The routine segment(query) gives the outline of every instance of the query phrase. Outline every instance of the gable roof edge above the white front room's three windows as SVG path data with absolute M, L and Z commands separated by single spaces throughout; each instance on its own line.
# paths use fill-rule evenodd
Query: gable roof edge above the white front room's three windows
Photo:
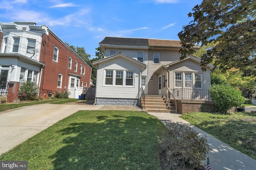
M 140 66 L 142 66 L 142 67 L 144 67 L 145 69 L 147 68 L 147 65 L 146 65 L 146 64 L 141 63 L 140 61 L 135 60 L 135 59 L 133 59 L 132 57 L 129 57 L 128 55 L 125 55 L 125 54 L 123 54 L 123 53 L 116 53 L 116 54 L 111 55 L 111 56 L 109 56 L 109 57 L 106 57 L 106 58 L 104 58 L 104 59 L 100 59 L 100 60 L 94 61 L 94 62 L 92 62 L 92 65 L 96 68 L 96 65 L 97 65 L 97 64 L 104 63 L 104 62 L 109 61 L 109 60 L 111 60 L 111 59 L 114 59 L 114 58 L 116 58 L 116 57 L 123 57 L 123 58 L 125 58 L 125 59 L 128 59 L 128 60 L 130 60 L 130 61 L 132 61 L 132 62 L 134 62 L 134 63 L 136 63 L 136 64 L 138 64 L 138 65 L 140 65 Z

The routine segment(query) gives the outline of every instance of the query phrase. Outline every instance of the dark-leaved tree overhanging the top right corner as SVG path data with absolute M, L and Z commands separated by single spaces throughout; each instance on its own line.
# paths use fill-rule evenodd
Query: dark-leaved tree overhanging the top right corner
M 222 72 L 235 67 L 256 75 L 256 1 L 203 0 L 192 10 L 188 16 L 194 20 L 178 33 L 181 59 L 194 53 L 195 44 L 215 41 L 219 43 L 200 57 L 202 70 L 213 62 Z

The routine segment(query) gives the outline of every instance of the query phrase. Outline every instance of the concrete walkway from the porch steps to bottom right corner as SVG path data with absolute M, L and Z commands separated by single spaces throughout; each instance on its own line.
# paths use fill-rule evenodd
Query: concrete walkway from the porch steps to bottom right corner
M 180 114 L 176 113 L 152 113 L 149 114 L 158 117 L 164 124 L 166 120 L 172 120 L 173 122 L 182 122 L 190 124 L 184 119 L 180 118 Z M 190 124 L 191 125 L 191 124 Z M 209 160 L 212 170 L 256 170 L 256 160 L 239 152 L 238 150 L 230 147 L 226 143 L 216 139 L 212 135 L 202 131 L 198 127 L 191 125 L 193 129 L 199 133 L 200 136 L 205 137 L 208 141 L 208 145 L 212 149 L 209 151 Z M 205 160 L 203 164 L 206 165 Z

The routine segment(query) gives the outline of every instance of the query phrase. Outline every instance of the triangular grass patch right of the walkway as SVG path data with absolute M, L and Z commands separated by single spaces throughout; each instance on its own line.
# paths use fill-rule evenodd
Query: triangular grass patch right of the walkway
M 256 113 L 187 113 L 182 119 L 256 159 Z

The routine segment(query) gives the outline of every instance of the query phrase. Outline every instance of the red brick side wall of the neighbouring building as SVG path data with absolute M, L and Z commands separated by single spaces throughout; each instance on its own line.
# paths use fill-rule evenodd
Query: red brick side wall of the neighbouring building
M 59 49 L 58 53 L 58 63 L 53 61 L 54 47 Z M 68 68 L 68 59 L 72 57 L 72 68 Z M 77 72 L 74 71 L 75 61 L 77 64 Z M 45 64 L 42 69 L 42 80 L 40 84 L 39 97 L 48 98 L 50 92 L 54 93 L 56 90 L 64 91 L 64 87 L 68 89 L 68 78 L 69 73 L 77 74 L 81 76 L 81 81 L 87 82 L 87 86 L 90 86 L 90 74 L 91 68 L 84 64 L 74 53 L 72 53 L 68 48 L 66 48 L 56 37 L 49 33 L 49 35 L 44 34 L 42 37 L 42 45 L 40 51 L 40 62 Z M 82 69 L 85 67 L 85 76 L 80 74 L 80 64 L 82 64 Z M 57 88 L 58 84 L 58 74 L 62 74 L 62 87 Z

